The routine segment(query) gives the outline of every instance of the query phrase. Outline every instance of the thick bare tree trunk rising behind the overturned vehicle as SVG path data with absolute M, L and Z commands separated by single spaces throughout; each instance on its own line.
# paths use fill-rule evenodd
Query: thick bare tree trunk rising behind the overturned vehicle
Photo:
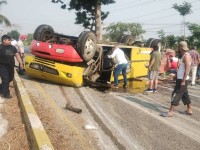
M 101 24 L 101 5 L 97 3 L 95 10 L 95 20 L 96 20 L 96 36 L 97 40 L 102 40 L 102 24 Z

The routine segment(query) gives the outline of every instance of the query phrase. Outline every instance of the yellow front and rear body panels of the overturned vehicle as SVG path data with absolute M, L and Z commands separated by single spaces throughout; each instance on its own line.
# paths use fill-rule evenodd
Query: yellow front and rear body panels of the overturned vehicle
M 101 45 L 113 47 L 112 45 Z M 129 51 L 129 67 L 127 69 L 127 78 L 137 78 L 147 75 L 145 65 L 149 63 L 151 48 L 134 47 L 134 46 L 119 46 L 125 53 Z M 35 65 L 35 66 L 34 66 Z M 38 67 L 38 68 L 37 68 Z M 42 68 L 43 67 L 43 68 Z M 26 74 L 68 86 L 80 87 L 83 85 L 84 67 L 81 63 L 59 63 L 53 60 L 38 58 L 35 56 L 25 57 Z M 119 75 L 119 80 L 122 80 L 122 74 Z M 113 72 L 110 82 L 114 81 Z

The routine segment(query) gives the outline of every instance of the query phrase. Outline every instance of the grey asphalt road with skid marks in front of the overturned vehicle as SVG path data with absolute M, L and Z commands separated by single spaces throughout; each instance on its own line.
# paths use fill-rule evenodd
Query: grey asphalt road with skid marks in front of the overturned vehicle
M 22 81 L 55 149 L 200 150 L 200 85 L 189 86 L 192 116 L 182 114 L 186 108 L 181 102 L 174 117 L 163 118 L 160 112 L 170 106 L 174 83 L 160 83 L 158 93 L 133 94 L 67 87 L 27 76 Z M 66 110 L 66 104 L 82 113 Z

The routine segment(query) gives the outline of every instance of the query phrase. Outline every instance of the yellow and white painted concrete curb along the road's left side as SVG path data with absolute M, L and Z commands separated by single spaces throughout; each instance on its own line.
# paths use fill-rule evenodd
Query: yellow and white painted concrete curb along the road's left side
M 30 137 L 31 149 L 33 150 L 54 150 L 50 139 L 31 103 L 29 95 L 15 70 L 13 80 L 14 88 L 22 109 L 22 116 Z

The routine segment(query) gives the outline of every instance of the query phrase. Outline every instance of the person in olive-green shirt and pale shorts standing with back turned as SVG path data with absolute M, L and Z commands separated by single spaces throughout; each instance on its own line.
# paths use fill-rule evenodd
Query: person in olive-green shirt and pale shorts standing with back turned
M 149 61 L 149 88 L 146 92 L 157 92 L 158 86 L 158 74 L 161 65 L 161 54 L 158 52 L 158 46 L 153 46 L 153 53 L 151 54 Z

